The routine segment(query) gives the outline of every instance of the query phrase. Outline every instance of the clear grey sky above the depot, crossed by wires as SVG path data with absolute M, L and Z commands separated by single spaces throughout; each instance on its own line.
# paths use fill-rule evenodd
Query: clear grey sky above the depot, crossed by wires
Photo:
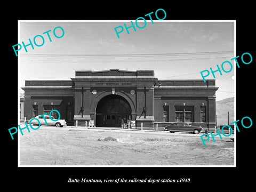
M 133 20 L 133 23 L 135 21 Z M 19 21 L 17 43 L 29 44 L 36 35 L 44 37 L 42 46 L 18 51 L 19 92 L 25 80 L 70 80 L 75 70 L 154 70 L 158 79 L 202 79 L 203 70 L 217 69 L 235 57 L 234 21 L 147 20 L 146 27 L 131 26 L 130 20 L 115 21 Z M 144 26 L 142 20 L 139 26 Z M 61 38 L 53 35 L 62 27 Z M 117 37 L 114 28 L 123 26 Z M 121 28 L 118 28 L 120 30 Z M 45 31 L 51 30 L 49 41 Z M 62 31 L 55 30 L 57 36 Z M 42 44 L 40 37 L 37 44 Z M 14 53 L 15 54 L 15 53 Z M 215 73 L 216 100 L 234 97 L 235 65 L 222 75 Z M 227 71 L 230 66 L 223 65 Z M 206 79 L 214 79 L 212 75 Z

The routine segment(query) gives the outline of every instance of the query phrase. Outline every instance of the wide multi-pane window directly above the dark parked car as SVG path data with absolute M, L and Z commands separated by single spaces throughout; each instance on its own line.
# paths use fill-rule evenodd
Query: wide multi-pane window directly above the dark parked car
M 175 106 L 175 122 L 194 122 L 194 106 Z

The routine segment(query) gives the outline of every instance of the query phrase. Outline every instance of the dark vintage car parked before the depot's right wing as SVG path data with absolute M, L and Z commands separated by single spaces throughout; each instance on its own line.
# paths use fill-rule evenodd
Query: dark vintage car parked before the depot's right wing
M 191 132 L 191 133 L 198 134 L 199 132 L 202 131 L 202 127 L 191 125 L 191 123 L 176 122 L 176 123 L 171 123 L 170 125 L 166 125 L 164 127 L 164 130 L 170 131 L 170 133 Z

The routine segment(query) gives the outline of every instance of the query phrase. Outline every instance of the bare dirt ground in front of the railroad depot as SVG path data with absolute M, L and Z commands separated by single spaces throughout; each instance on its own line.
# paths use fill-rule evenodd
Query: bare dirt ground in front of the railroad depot
M 234 165 L 229 137 L 185 134 L 41 127 L 20 136 L 20 165 Z

